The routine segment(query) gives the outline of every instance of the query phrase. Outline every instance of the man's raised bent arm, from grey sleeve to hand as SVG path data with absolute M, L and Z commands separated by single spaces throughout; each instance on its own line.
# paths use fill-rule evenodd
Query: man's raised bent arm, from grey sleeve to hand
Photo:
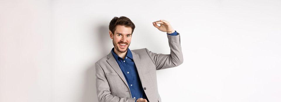
M 167 32 L 170 46 L 170 54 L 156 54 L 146 49 L 149 57 L 154 62 L 156 70 L 171 68 L 183 63 L 182 49 L 180 46 L 180 34 L 175 32 L 173 27 L 166 20 L 159 20 L 152 23 L 158 30 Z M 158 26 L 157 24 L 160 24 Z M 177 33 L 177 34 L 175 34 Z

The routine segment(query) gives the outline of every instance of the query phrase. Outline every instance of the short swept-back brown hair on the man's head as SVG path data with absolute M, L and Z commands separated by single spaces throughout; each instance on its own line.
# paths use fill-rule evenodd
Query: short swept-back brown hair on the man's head
M 128 18 L 125 16 L 121 16 L 121 17 L 113 17 L 112 20 L 109 23 L 109 30 L 112 32 L 112 34 L 114 34 L 115 31 L 115 27 L 117 25 L 122 25 L 125 27 L 131 27 L 132 28 L 132 34 L 134 32 L 135 29 L 135 24 Z

